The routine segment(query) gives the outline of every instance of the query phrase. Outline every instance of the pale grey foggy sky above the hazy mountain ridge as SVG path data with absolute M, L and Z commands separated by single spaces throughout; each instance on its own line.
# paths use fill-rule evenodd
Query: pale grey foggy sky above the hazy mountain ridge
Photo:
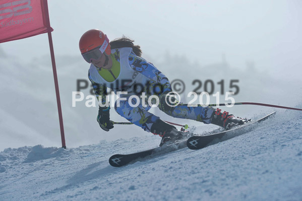
M 93 28 L 109 39 L 140 44 L 151 62 L 165 52 L 209 64 L 222 54 L 234 68 L 247 61 L 278 78 L 299 79 L 300 1 L 48 1 L 56 55 L 80 55 L 78 41 Z M 25 62 L 49 54 L 47 34 L 0 44 Z M 88 68 L 82 61 L 83 68 Z

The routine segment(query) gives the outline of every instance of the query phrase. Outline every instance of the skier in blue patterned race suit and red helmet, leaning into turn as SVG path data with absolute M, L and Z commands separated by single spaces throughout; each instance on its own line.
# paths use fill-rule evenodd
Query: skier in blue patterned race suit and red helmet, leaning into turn
M 225 129 L 247 121 L 226 111 L 221 112 L 218 108 L 215 110 L 212 107 L 188 107 L 184 104 L 176 106 L 175 99 L 173 97 L 169 99 L 169 92 L 172 92 L 172 89 L 167 77 L 141 57 L 140 46 L 134 45 L 133 42 L 134 40 L 126 37 L 109 42 L 107 35 L 102 31 L 92 29 L 82 35 L 79 47 L 83 58 L 91 63 L 88 78 L 99 102 L 105 105 L 107 87 L 115 92 L 126 91 L 127 94 L 119 98 L 119 106 L 118 100 L 115 102 L 115 111 L 145 131 L 162 137 L 160 146 L 167 141 L 182 139 L 185 133 L 148 112 L 151 106 L 148 104 L 143 106 L 142 100 L 137 107 L 132 107 L 136 104 L 136 99 L 131 100 L 131 106 L 129 97 L 138 95 L 138 86 L 141 87 L 139 94 L 144 92 L 146 100 L 151 95 L 156 95 L 159 99 L 159 109 L 173 117 L 212 123 Z M 97 121 L 105 131 L 113 128 L 109 110 L 110 106 L 99 106 L 98 110 Z

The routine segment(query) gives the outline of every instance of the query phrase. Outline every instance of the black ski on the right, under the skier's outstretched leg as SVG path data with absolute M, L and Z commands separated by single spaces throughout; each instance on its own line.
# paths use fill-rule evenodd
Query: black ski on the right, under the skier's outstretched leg
M 210 143 L 212 143 L 214 140 L 218 139 L 219 142 L 223 141 L 223 137 L 227 135 L 234 135 L 233 137 L 236 136 L 236 134 L 243 134 L 247 131 L 249 131 L 251 125 L 255 125 L 256 122 L 261 122 L 266 120 L 268 117 L 274 115 L 276 112 L 272 112 L 258 120 L 250 121 L 247 122 L 243 125 L 236 126 L 230 130 L 225 130 L 222 132 L 214 133 L 212 135 L 207 135 L 207 136 L 192 136 L 187 140 L 187 146 L 189 149 L 197 150 L 197 149 L 202 149 L 207 147 Z M 228 138 L 230 139 L 230 138 Z M 227 139 L 227 140 L 228 140 Z

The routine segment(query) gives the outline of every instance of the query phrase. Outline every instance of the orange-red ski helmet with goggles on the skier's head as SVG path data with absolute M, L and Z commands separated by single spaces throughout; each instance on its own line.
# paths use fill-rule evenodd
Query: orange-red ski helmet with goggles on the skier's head
M 85 32 L 79 42 L 80 51 L 87 62 L 97 60 L 106 52 L 111 54 L 109 39 L 102 31 L 91 29 Z

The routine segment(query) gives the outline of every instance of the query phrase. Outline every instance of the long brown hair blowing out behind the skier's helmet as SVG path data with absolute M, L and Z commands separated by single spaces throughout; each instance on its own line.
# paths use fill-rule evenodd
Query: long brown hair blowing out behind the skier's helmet
M 132 47 L 133 52 L 137 56 L 142 56 L 142 50 L 139 45 L 133 44 L 134 40 L 123 36 L 122 38 L 116 38 L 110 41 L 111 49 L 122 48 L 122 47 Z

